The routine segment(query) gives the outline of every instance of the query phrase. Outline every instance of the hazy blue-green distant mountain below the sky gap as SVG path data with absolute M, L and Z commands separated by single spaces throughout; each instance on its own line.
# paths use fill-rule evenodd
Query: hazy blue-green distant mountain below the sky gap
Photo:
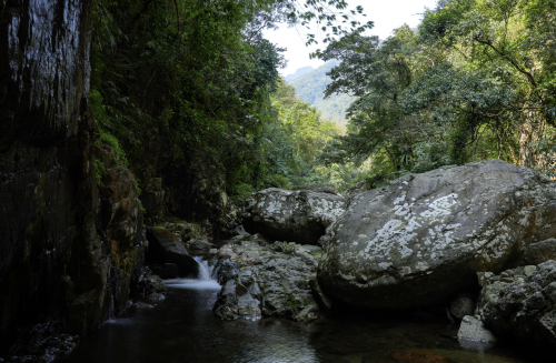
M 288 81 L 296 89 L 296 94 L 302 101 L 309 102 L 322 114 L 322 120 L 346 122 L 346 109 L 355 100 L 354 97 L 341 93 L 332 94 L 328 99 L 322 99 L 322 92 L 327 84 L 331 82 L 326 75 L 332 67 L 338 65 L 336 60 L 329 61 L 292 81 Z M 307 68 L 307 67 L 306 67 Z M 302 68 L 305 69 L 305 68 Z M 296 72 L 297 73 L 297 72 Z

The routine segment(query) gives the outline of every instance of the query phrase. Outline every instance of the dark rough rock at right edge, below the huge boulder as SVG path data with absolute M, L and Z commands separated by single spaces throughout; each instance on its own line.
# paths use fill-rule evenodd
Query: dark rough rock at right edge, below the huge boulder
M 494 281 L 483 289 L 478 313 L 496 336 L 529 350 L 556 347 L 556 261 L 544 262 L 525 279 Z

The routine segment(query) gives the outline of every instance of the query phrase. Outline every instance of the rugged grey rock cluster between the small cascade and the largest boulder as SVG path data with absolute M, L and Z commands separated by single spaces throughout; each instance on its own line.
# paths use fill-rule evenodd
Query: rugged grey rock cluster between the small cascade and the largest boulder
M 329 305 L 316 283 L 318 246 L 270 243 L 255 234 L 236 238 L 218 253 L 224 288 L 214 311 L 222 320 L 276 316 L 312 321 L 320 316 L 319 304 Z

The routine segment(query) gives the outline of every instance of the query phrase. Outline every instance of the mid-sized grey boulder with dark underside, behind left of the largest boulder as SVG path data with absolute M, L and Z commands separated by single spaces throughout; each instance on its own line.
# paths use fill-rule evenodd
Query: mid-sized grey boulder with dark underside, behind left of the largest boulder
M 344 213 L 344 204 L 339 194 L 265 189 L 247 200 L 244 226 L 249 233 L 275 240 L 316 244 L 326 228 Z

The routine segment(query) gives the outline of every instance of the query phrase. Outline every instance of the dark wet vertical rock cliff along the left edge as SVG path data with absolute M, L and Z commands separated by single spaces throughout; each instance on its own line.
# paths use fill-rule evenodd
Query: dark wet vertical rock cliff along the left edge
M 97 327 L 141 255 L 132 175 L 115 161 L 101 193 L 95 179 L 90 7 L 0 3 L 0 349 L 47 319 Z

